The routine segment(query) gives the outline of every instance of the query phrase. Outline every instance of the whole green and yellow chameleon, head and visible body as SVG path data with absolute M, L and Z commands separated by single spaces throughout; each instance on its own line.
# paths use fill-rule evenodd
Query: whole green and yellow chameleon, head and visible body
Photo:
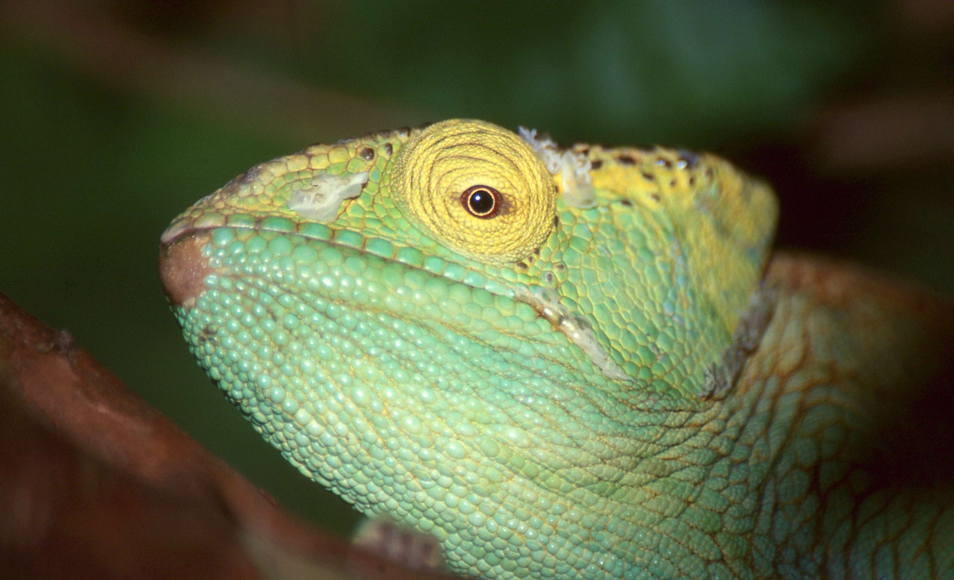
M 949 303 L 777 219 L 716 155 L 452 119 L 250 169 L 160 270 L 253 427 L 458 574 L 954 578 L 950 479 L 884 445 Z

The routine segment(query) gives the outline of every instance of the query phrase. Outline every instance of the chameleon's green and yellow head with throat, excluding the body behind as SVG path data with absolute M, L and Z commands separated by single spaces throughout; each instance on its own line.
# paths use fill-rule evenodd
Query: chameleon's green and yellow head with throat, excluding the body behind
M 163 281 L 307 476 L 458 571 L 612 575 L 714 404 L 775 201 L 711 155 L 524 136 L 452 120 L 259 165 L 163 234 Z

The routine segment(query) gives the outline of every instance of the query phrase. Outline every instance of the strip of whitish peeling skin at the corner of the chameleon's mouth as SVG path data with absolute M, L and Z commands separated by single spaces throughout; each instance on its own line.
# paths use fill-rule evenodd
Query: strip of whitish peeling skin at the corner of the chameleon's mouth
M 631 379 L 623 369 L 610 358 L 610 354 L 600 346 L 593 334 L 590 321 L 584 317 L 575 316 L 570 309 L 560 303 L 560 297 L 552 288 L 536 286 L 532 290 L 529 288 L 519 288 L 514 293 L 515 300 L 520 300 L 529 304 L 541 316 L 550 321 L 553 326 L 565 334 L 573 344 L 580 347 L 603 372 L 603 376 L 614 381 L 627 381 L 632 383 Z

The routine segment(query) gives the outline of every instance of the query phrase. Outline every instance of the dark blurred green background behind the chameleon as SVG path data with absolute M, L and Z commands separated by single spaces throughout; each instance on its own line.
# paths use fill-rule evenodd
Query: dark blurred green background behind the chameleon
M 310 142 L 469 116 L 716 151 L 775 184 L 781 245 L 954 292 L 951 4 L 5 2 L 0 291 L 344 531 L 187 352 L 156 275 L 176 214 Z

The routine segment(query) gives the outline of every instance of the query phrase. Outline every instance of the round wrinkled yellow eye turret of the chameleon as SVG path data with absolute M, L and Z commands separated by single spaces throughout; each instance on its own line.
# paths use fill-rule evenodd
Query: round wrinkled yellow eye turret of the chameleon
M 404 145 L 396 204 L 453 250 L 485 262 L 524 259 L 550 235 L 553 177 L 519 136 L 485 121 L 437 123 Z

